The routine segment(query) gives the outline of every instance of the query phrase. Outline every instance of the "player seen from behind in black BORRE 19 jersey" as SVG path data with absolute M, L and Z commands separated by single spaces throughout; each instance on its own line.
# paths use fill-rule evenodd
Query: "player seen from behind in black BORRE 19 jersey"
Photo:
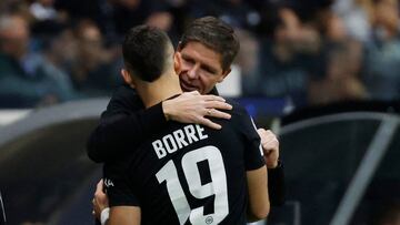
M 122 45 L 122 76 L 144 108 L 182 93 L 168 35 L 131 29 Z M 231 103 L 234 104 L 234 103 Z M 124 158 L 104 165 L 110 200 L 107 224 L 246 224 L 269 213 L 267 167 L 260 136 L 246 110 L 234 104 L 221 130 L 169 122 Z M 126 144 L 126 143 L 124 143 Z M 139 216 L 141 215 L 141 216 Z M 141 221 L 139 219 L 141 217 Z

